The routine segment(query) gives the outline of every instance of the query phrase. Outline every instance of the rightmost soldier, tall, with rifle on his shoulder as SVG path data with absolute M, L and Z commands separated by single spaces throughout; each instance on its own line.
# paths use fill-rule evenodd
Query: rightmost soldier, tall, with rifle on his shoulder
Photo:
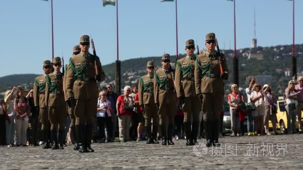
M 223 111 L 224 81 L 228 68 L 224 54 L 218 54 L 216 36 L 205 36 L 206 51 L 198 55 L 195 67 L 196 94 L 202 100 L 203 121 L 206 132 L 206 146 L 219 145 L 220 113 Z M 220 73 L 220 64 L 223 73 Z

